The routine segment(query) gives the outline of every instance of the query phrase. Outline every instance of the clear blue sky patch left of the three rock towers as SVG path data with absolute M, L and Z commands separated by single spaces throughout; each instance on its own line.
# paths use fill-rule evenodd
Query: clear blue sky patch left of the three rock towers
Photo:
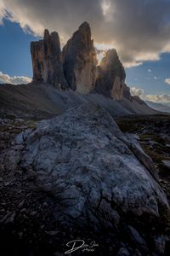
M 0 71 L 10 76 L 31 77 L 30 42 L 37 38 L 9 20 L 3 20 L 0 35 Z

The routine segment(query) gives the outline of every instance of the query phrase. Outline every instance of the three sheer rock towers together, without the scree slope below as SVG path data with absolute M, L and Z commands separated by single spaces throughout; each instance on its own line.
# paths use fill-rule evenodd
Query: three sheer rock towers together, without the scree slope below
M 34 81 L 54 84 L 61 89 L 68 87 L 82 95 L 96 91 L 122 100 L 126 74 L 116 49 L 109 49 L 97 67 L 97 51 L 87 21 L 73 33 L 62 54 L 58 33 L 49 34 L 45 29 L 44 39 L 31 43 L 31 55 Z

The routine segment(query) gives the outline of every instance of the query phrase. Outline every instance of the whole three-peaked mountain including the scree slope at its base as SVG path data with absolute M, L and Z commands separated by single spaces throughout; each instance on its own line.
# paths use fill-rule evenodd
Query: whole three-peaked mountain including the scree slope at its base
M 31 42 L 32 83 L 17 87 L 3 84 L 1 111 L 47 117 L 83 102 L 97 102 L 112 116 L 158 113 L 131 96 L 116 49 L 105 53 L 99 67 L 98 54 L 88 22 L 79 26 L 62 51 L 59 34 L 45 29 L 42 40 Z

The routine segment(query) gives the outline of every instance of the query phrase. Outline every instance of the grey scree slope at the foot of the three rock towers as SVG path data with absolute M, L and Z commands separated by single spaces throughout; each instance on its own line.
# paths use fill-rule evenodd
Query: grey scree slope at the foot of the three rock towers
M 48 84 L 2 84 L 0 86 L 0 113 L 18 117 L 43 119 L 63 113 L 66 109 L 84 102 L 96 102 L 112 116 L 128 114 L 156 114 L 156 110 L 133 100 L 114 101 L 111 98 L 91 93 L 82 96 L 73 90 L 57 90 Z

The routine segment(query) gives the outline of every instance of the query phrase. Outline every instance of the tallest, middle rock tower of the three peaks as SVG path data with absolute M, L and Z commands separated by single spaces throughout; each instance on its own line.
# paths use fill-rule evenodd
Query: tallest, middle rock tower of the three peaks
M 88 94 L 94 89 L 97 57 L 88 22 L 82 23 L 63 49 L 65 79 L 72 90 Z

